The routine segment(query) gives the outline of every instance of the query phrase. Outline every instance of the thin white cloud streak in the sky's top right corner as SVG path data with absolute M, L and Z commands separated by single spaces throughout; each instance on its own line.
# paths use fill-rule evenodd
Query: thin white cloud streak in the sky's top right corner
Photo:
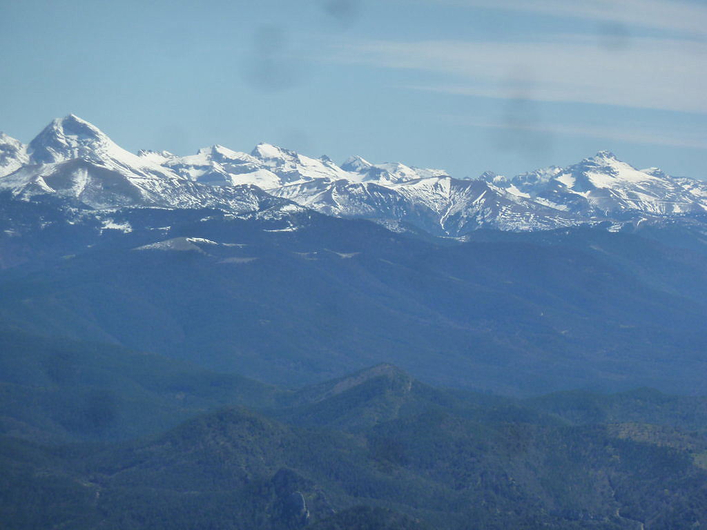
M 407 0 L 406 0 L 407 1 Z M 684 0 L 419 0 L 468 8 L 565 16 L 630 27 L 707 35 L 707 6 Z

